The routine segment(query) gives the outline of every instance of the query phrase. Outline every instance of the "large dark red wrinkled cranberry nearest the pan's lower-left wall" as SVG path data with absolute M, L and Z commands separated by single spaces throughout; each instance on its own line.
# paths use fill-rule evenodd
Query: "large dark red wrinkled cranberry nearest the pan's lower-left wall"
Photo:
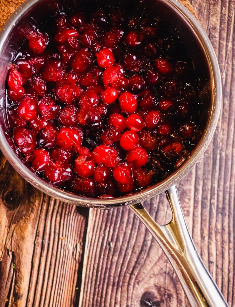
M 13 130 L 13 138 L 22 153 L 32 153 L 36 147 L 35 136 L 28 128 L 16 127 Z

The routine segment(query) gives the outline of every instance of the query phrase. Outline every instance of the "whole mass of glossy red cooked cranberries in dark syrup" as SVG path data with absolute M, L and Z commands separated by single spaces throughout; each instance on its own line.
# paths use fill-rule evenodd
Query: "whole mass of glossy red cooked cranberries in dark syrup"
M 7 113 L 17 154 L 38 176 L 109 198 L 189 157 L 202 134 L 199 82 L 161 20 L 143 7 L 80 7 L 25 37 L 9 65 Z

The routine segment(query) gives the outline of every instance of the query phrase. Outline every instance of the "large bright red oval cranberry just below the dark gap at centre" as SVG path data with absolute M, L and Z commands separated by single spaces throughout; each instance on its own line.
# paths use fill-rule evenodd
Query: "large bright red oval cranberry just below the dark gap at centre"
M 100 165 L 104 164 L 107 167 L 113 168 L 118 163 L 118 153 L 112 147 L 107 145 L 99 145 L 97 146 L 93 152 L 93 157 L 95 162 Z

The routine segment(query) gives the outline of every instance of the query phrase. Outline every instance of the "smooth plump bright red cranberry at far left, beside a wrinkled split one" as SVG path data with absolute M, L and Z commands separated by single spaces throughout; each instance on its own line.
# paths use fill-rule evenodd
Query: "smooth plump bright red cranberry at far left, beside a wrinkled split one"
M 37 118 L 38 103 L 31 97 L 25 97 L 18 107 L 18 113 L 25 121 L 30 121 Z

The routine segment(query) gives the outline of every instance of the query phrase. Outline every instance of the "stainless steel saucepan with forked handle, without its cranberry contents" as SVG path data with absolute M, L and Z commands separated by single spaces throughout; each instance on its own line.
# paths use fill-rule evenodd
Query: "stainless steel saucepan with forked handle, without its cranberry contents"
M 186 161 L 163 181 L 132 195 L 94 199 L 74 195 L 43 181 L 32 173 L 17 157 L 10 144 L 9 125 L 6 119 L 5 80 L 8 65 L 13 60 L 17 46 L 24 37 L 21 29 L 27 24 L 40 24 L 65 6 L 79 4 L 74 0 L 27 0 L 21 5 L 2 28 L 0 34 L 0 147 L 11 165 L 28 182 L 41 191 L 84 207 L 111 208 L 129 206 L 153 234 L 171 262 L 191 306 L 228 306 L 222 293 L 211 278 L 196 251 L 185 223 L 176 191 L 179 181 L 196 164 L 206 150 L 217 125 L 221 105 L 221 78 L 216 55 L 212 45 L 196 18 L 175 0 L 142 0 L 152 14 L 161 13 L 172 32 L 178 31 L 181 41 L 194 62 L 202 87 L 203 110 L 200 120 L 204 131 L 194 151 Z M 91 5 L 98 0 L 89 0 Z M 108 2 L 108 0 L 105 0 Z M 101 2 L 104 4 L 104 2 Z M 76 3 L 75 3 L 76 2 Z M 115 0 L 114 0 L 115 2 Z M 133 2 L 135 5 L 135 2 Z M 141 204 L 143 201 L 166 193 L 172 209 L 172 220 L 166 225 L 156 223 Z

